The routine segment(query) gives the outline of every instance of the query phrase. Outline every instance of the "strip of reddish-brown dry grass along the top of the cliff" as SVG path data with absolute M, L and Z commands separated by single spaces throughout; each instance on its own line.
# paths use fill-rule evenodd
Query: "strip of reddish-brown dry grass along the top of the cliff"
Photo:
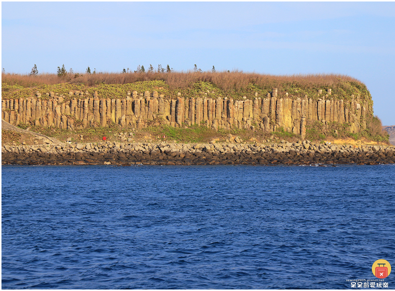
M 1 82 L 8 85 L 22 87 L 35 87 L 43 84 L 54 85 L 59 83 L 84 83 L 87 86 L 96 84 L 127 84 L 136 81 L 163 80 L 170 89 L 187 88 L 191 83 L 198 81 L 210 82 L 216 87 L 227 91 L 245 90 L 249 85 L 262 89 L 280 88 L 284 83 L 303 88 L 333 88 L 342 81 L 355 82 L 363 85 L 359 80 L 340 74 L 296 74 L 296 75 L 269 75 L 259 73 L 232 72 L 172 72 L 172 73 L 68 73 L 66 77 L 59 78 L 54 73 L 41 73 L 37 76 L 14 73 L 2 73 Z

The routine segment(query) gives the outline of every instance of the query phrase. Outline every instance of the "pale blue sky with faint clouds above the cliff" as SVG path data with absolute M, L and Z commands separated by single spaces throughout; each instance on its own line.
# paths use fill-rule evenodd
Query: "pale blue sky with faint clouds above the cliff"
M 395 2 L 1 2 L 1 67 L 34 64 L 347 74 L 395 125 Z

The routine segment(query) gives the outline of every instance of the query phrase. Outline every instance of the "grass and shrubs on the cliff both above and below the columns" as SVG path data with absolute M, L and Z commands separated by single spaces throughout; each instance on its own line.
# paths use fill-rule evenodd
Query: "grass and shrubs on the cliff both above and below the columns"
M 54 74 L 14 74 L 2 73 L 1 96 L 2 99 L 32 98 L 36 92 L 40 92 L 41 99 L 48 99 L 48 92 L 58 93 L 65 97 L 65 101 L 73 98 L 69 96 L 69 91 L 88 91 L 89 94 L 97 92 L 98 98 L 125 98 L 128 91 L 136 90 L 138 93 L 144 91 L 163 94 L 165 98 L 176 98 L 177 93 L 183 97 L 208 97 L 216 99 L 218 97 L 234 100 L 254 99 L 256 93 L 259 97 L 265 98 L 273 88 L 278 89 L 277 98 L 296 99 L 308 98 L 317 100 L 318 90 L 326 94 L 328 89 L 332 90 L 330 98 L 333 100 L 351 100 L 352 95 L 362 102 L 367 101 L 368 114 L 373 116 L 373 101 L 370 92 L 361 81 L 339 74 L 306 74 L 306 75 L 269 75 L 243 72 L 140 72 L 140 73 L 66 73 Z M 286 94 L 288 93 L 288 94 Z M 81 135 L 84 141 L 97 142 L 103 135 L 111 136 L 117 140 L 121 136 L 119 133 L 132 132 L 132 129 L 125 130 L 118 128 L 117 124 L 107 128 L 85 128 L 70 131 L 40 128 L 33 125 L 20 124 L 19 127 L 30 127 L 32 131 L 42 132 L 45 135 L 65 138 L 72 136 L 74 140 L 80 140 Z M 335 134 L 336 133 L 336 134 Z M 18 139 L 3 131 L 3 139 L 9 141 Z M 279 129 L 277 132 L 263 134 L 261 132 L 250 132 L 248 130 L 234 129 L 231 132 L 220 130 L 215 132 L 204 126 L 195 125 L 190 128 L 171 128 L 166 125 L 153 125 L 144 130 L 134 130 L 133 138 L 136 140 L 160 140 L 165 135 L 166 138 L 178 142 L 204 142 L 217 138 L 220 141 L 229 140 L 229 135 L 236 135 L 244 141 L 264 141 L 268 139 L 288 139 L 297 140 L 298 136 L 284 132 Z M 368 128 L 359 134 L 350 134 L 347 124 L 332 124 L 330 130 L 323 130 L 319 124 L 308 124 L 306 138 L 310 140 L 328 140 L 329 137 L 343 139 L 367 138 L 376 142 L 388 142 L 388 134 L 381 129 L 381 121 L 378 117 L 373 117 L 369 121 Z M 21 139 L 22 137 L 19 137 Z M 300 137 L 299 137 L 300 138 Z M 2 139 L 2 140 L 3 140 Z

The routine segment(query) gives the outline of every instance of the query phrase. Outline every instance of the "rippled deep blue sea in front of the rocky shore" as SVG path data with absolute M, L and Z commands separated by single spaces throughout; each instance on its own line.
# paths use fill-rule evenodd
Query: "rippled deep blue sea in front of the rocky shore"
M 350 289 L 376 279 L 379 258 L 395 268 L 394 177 L 392 165 L 2 166 L 1 287 Z

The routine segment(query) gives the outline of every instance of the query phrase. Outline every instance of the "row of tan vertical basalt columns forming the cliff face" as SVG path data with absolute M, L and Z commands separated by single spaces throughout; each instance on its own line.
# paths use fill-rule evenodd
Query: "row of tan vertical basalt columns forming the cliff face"
M 304 138 L 306 124 L 319 121 L 350 122 L 353 133 L 366 128 L 366 114 L 372 112 L 367 101 L 353 95 L 344 100 L 330 98 L 317 93 L 317 100 L 286 96 L 280 99 L 277 89 L 265 98 L 255 94 L 254 100 L 166 98 L 154 91 L 132 94 L 122 99 L 99 99 L 95 92 L 70 92 L 74 97 L 65 102 L 63 96 L 54 95 L 42 99 L 38 93 L 35 98 L 1 101 L 1 118 L 18 125 L 19 123 L 56 127 L 62 129 L 82 129 L 86 127 L 106 127 L 116 123 L 120 127 L 147 126 L 147 121 L 162 118 L 173 126 L 191 126 L 204 123 L 212 129 L 238 129 L 275 131 L 282 127 L 285 131 L 301 134 Z

